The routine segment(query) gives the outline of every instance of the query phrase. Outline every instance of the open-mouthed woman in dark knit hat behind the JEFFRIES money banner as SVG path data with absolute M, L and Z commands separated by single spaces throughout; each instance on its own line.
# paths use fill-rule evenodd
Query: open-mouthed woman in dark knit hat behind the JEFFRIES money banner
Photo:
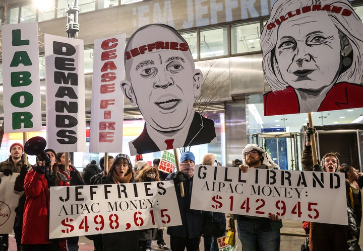
M 124 153 L 117 154 L 108 170 L 107 176 L 101 179 L 101 184 L 123 184 L 134 182 L 135 172 L 130 157 Z M 129 251 L 138 250 L 138 248 L 139 231 L 103 234 L 103 250 L 105 251 Z

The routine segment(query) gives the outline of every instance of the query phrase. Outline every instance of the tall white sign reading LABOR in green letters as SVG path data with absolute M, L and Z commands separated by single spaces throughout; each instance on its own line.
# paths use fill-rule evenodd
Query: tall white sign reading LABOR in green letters
M 38 24 L 2 26 L 4 131 L 41 131 Z

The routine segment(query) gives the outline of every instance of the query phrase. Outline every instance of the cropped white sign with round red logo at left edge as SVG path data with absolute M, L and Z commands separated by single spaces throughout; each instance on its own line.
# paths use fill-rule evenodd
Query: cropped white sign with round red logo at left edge
M 18 175 L 13 173 L 5 176 L 0 173 L 0 234 L 13 231 L 15 208 L 19 204 L 19 195 L 14 193 L 14 183 Z

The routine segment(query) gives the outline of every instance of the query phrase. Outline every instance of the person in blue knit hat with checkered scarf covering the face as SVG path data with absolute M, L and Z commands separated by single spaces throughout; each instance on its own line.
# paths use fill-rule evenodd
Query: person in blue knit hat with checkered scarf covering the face
M 186 151 L 180 156 L 180 172 L 171 173 L 166 180 L 173 180 L 176 197 L 179 205 L 181 222 L 183 225 L 168 227 L 170 235 L 170 247 L 172 251 L 199 250 L 199 243 L 203 234 L 203 213 L 200 210 L 190 209 L 192 199 L 193 176 L 195 168 L 195 156 Z M 180 196 L 179 184 L 182 183 L 185 197 Z M 209 213 L 209 218 L 211 214 Z

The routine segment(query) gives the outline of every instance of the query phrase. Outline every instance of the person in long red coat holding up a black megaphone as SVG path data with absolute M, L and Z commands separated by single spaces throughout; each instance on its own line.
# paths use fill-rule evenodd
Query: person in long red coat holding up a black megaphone
M 66 239 L 49 239 L 49 187 L 69 186 L 62 182 L 63 175 L 58 172 L 55 152 L 44 150 L 49 161 L 41 161 L 33 166 L 25 177 L 22 251 L 66 251 Z

